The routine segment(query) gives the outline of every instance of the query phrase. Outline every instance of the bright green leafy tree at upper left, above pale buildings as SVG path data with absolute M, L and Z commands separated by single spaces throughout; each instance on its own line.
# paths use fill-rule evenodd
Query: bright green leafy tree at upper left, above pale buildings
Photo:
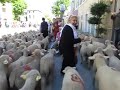
M 14 19 L 19 20 L 20 15 L 24 13 L 24 10 L 27 8 L 27 4 L 24 0 L 17 0 L 13 2 L 13 14 Z

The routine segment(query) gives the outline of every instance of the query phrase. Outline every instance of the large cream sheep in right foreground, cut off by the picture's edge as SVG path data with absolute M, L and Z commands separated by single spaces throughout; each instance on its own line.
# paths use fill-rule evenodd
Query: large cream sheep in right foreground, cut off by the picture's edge
M 120 72 L 108 67 L 102 55 L 96 57 L 97 72 L 95 75 L 95 87 L 98 90 L 120 90 Z

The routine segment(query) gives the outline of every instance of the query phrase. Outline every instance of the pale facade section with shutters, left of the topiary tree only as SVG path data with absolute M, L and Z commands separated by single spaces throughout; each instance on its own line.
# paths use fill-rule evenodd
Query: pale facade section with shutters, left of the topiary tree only
M 78 16 L 79 31 L 95 35 L 95 26 L 88 23 L 91 16 L 90 7 L 93 3 L 99 0 L 72 0 L 71 14 Z

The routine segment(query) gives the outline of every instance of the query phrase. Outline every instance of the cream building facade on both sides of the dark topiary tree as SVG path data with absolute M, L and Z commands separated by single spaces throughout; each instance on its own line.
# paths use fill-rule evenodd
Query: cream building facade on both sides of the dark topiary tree
M 71 1 L 71 14 L 79 17 L 79 30 L 80 32 L 86 32 L 88 34 L 96 35 L 96 26 L 88 23 L 91 17 L 90 8 L 91 5 L 102 0 L 72 0 Z M 103 0 L 110 6 L 110 11 L 105 13 L 105 17 L 102 20 L 104 27 L 107 29 L 107 34 L 104 38 L 111 39 L 113 30 L 113 21 L 111 19 L 111 13 L 119 12 L 120 0 Z

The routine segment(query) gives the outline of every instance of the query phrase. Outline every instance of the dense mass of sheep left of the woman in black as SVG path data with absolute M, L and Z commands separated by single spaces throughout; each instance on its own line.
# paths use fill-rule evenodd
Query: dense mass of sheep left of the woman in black
M 48 44 L 49 36 L 44 38 L 39 31 L 2 36 L 0 90 L 46 90 L 52 86 L 56 50 L 47 49 Z

